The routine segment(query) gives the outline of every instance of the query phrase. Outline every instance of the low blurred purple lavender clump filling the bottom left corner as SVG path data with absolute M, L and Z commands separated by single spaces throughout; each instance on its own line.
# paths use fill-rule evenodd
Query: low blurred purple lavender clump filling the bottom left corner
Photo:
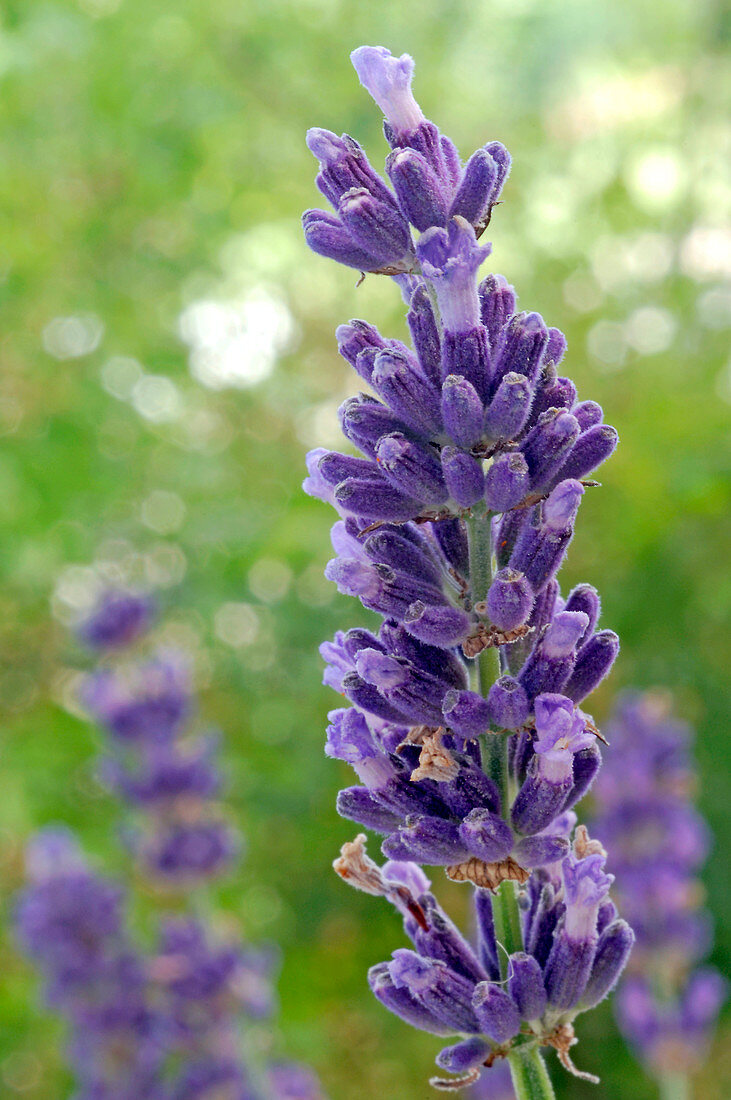
M 242 1057 L 246 1028 L 275 1008 L 272 952 L 215 943 L 182 917 L 143 952 L 124 891 L 63 829 L 36 835 L 27 871 L 18 936 L 67 1022 L 78 1100 L 322 1100 L 304 1067 Z

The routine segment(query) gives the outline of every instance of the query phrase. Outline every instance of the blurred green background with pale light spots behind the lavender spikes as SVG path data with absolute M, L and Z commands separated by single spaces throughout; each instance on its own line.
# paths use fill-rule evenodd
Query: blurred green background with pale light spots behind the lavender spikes
M 48 822 L 78 828 L 99 866 L 129 876 L 118 809 L 95 778 L 97 737 L 70 702 L 86 658 L 66 625 L 93 575 L 152 584 L 159 636 L 193 651 L 201 714 L 225 732 L 247 856 L 217 892 L 218 920 L 281 944 L 281 1047 L 318 1068 L 332 1100 L 431 1092 L 438 1042 L 388 1016 L 365 985 L 367 966 L 402 944 L 398 922 L 329 870 L 354 828 L 333 805 L 348 770 L 322 754 L 334 700 L 317 645 L 363 614 L 321 579 L 331 517 L 299 488 L 304 450 L 335 442 L 335 409 L 354 388 L 334 326 L 362 316 L 403 330 L 396 288 L 377 277 L 356 288 L 354 273 L 308 253 L 298 222 L 319 205 L 307 127 L 353 133 L 377 164 L 385 155 L 347 59 L 383 43 L 416 57 L 418 98 L 463 154 L 490 139 L 511 150 L 486 270 L 566 332 L 580 396 L 619 429 L 564 584 L 595 583 L 622 638 L 595 717 L 623 685 L 658 684 L 698 729 L 724 968 L 721 6 L 5 0 L 0 21 L 4 898 L 22 880 L 25 838 Z M 441 892 L 464 913 L 464 890 Z M 143 890 L 143 930 L 154 905 Z M 0 974 L 0 1093 L 67 1096 L 62 1030 L 10 936 Z M 606 1005 L 579 1034 L 577 1062 L 602 1084 L 555 1067 L 561 1097 L 655 1096 Z M 729 1094 L 723 1050 L 721 1030 L 697 1098 Z

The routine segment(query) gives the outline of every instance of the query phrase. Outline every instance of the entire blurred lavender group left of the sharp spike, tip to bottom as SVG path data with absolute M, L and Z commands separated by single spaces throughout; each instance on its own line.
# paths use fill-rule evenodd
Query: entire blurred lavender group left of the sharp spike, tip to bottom
M 80 636 L 100 639 L 102 651 L 137 640 L 137 606 L 135 596 L 103 595 Z M 241 845 L 215 801 L 219 738 L 184 736 L 193 711 L 187 662 L 165 653 L 103 668 L 81 696 L 108 736 L 103 778 L 142 820 L 123 835 L 174 911 L 143 950 L 124 891 L 89 868 L 70 833 L 45 829 L 29 845 L 18 936 L 67 1021 L 76 1100 L 322 1100 L 309 1069 L 269 1060 L 278 953 L 220 941 L 192 915 Z

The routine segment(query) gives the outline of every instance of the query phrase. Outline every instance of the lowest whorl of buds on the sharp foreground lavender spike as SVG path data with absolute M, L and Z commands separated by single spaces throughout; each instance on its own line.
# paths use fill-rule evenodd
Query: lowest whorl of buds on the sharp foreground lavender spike
M 564 823 L 571 829 L 575 815 Z M 549 1042 L 564 1065 L 575 1042 L 572 1023 L 613 988 L 632 946 L 632 932 L 608 898 L 606 853 L 583 826 L 561 862 L 534 872 L 521 899 L 522 949 L 508 953 L 496 935 L 490 891 L 475 894 L 472 944 L 442 910 L 416 862 L 383 867 L 365 853 L 365 837 L 345 844 L 334 867 L 351 886 L 387 898 L 403 916 L 413 945 L 368 972 L 376 998 L 413 1027 L 462 1036 L 436 1057 L 458 1075 L 438 1088 L 477 1081 L 485 1067 L 521 1041 Z M 501 953 L 505 957 L 501 958 Z M 488 1074 L 487 1080 L 498 1075 Z M 589 1075 L 578 1075 L 595 1080 Z

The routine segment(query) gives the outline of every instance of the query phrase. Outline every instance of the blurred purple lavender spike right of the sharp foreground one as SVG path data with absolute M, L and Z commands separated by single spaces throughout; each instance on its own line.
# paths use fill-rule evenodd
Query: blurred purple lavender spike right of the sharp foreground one
M 616 1014 L 653 1076 L 684 1077 L 701 1065 L 724 998 L 721 976 L 697 966 L 711 927 L 697 879 L 709 835 L 690 801 L 691 732 L 665 696 L 646 693 L 622 700 L 608 734 L 594 827 L 611 846 L 616 894 L 636 933 Z

